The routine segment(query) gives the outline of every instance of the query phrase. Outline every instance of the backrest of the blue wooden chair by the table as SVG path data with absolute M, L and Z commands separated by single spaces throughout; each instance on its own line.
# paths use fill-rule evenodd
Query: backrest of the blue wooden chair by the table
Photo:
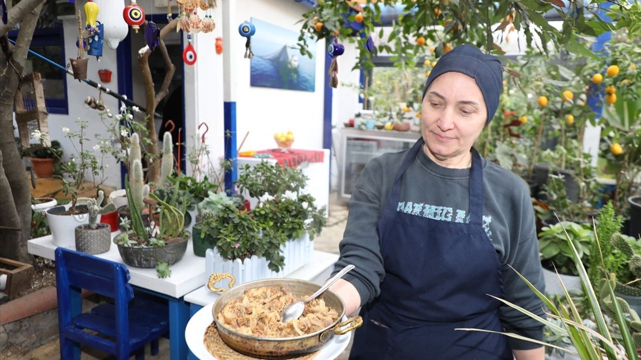
M 56 249 L 56 276 L 61 284 L 76 286 L 124 303 L 133 299 L 126 266 L 84 252 Z

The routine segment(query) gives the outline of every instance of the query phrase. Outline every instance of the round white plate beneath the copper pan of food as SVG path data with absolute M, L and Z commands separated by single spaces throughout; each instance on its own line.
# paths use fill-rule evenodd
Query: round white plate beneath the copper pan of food
M 189 350 L 201 360 L 218 360 L 207 351 L 203 343 L 204 331 L 213 322 L 212 307 L 213 302 L 197 311 L 197 313 L 189 319 L 187 328 L 185 329 L 185 339 L 187 340 Z M 347 320 L 347 317 L 343 317 L 343 320 Z M 335 359 L 347 348 L 351 336 L 351 331 L 344 335 L 334 336 L 332 340 L 320 350 L 319 354 L 314 357 L 314 360 Z

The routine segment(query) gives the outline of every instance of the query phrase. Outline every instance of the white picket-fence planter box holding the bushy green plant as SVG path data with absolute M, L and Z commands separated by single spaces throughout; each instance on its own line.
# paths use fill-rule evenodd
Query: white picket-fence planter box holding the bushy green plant
M 286 277 L 310 262 L 313 246 L 313 241 L 310 240 L 308 234 L 281 245 L 281 253 L 285 256 L 285 267 L 279 272 L 269 270 L 267 267 L 269 261 L 265 258 L 258 258 L 256 255 L 244 261 L 240 259 L 226 260 L 222 258 L 217 249 L 207 249 L 203 283 L 206 285 L 209 275 L 215 272 L 233 275 L 236 279 L 236 285 L 260 279 Z

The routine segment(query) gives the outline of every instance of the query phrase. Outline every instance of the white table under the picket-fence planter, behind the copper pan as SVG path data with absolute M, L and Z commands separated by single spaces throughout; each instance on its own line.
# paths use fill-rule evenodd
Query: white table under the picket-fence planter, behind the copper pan
M 329 278 L 329 275 L 331 275 L 331 272 L 334 269 L 334 263 L 336 263 L 337 260 L 337 254 L 314 250 L 310 257 L 310 263 L 299 268 L 295 272 L 292 272 L 292 274 L 287 277 L 290 279 L 302 279 L 322 284 Z M 185 302 L 189 302 L 191 304 L 190 315 L 194 316 L 199 310 L 203 309 L 203 307 L 213 304 L 219 296 L 221 296 L 221 294 L 212 293 L 212 291 L 209 291 L 207 286 L 202 286 L 201 288 L 185 295 L 184 299 Z M 187 333 L 187 328 L 185 328 L 185 333 Z M 347 341 L 349 341 L 349 338 L 347 339 Z M 190 351 L 189 359 L 196 360 L 199 359 L 199 357 L 192 354 Z

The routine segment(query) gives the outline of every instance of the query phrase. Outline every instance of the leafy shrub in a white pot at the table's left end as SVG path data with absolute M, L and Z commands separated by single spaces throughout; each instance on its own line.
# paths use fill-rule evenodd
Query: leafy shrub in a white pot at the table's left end
M 61 161 L 62 191 L 71 197 L 71 203 L 65 206 L 54 206 L 48 209 L 47 221 L 51 228 L 53 243 L 61 247 L 72 249 L 75 246 L 75 229 L 78 225 L 88 224 L 89 210 L 87 205 L 78 205 L 78 192 L 85 188 L 85 178 L 87 175 L 92 176 L 94 185 L 99 186 L 102 181 L 96 181 L 96 176 L 103 173 L 102 160 L 96 157 L 96 149 L 87 149 L 85 147 L 87 121 L 78 119 L 78 131 L 71 131 L 68 127 L 63 127 L 62 131 L 65 137 L 72 143 L 76 154 L 69 161 Z M 100 149 L 98 149 L 100 150 Z M 104 152 L 101 152 L 104 155 Z M 98 184 L 96 184 L 98 183 Z M 97 221 L 100 221 L 101 215 L 97 215 Z

